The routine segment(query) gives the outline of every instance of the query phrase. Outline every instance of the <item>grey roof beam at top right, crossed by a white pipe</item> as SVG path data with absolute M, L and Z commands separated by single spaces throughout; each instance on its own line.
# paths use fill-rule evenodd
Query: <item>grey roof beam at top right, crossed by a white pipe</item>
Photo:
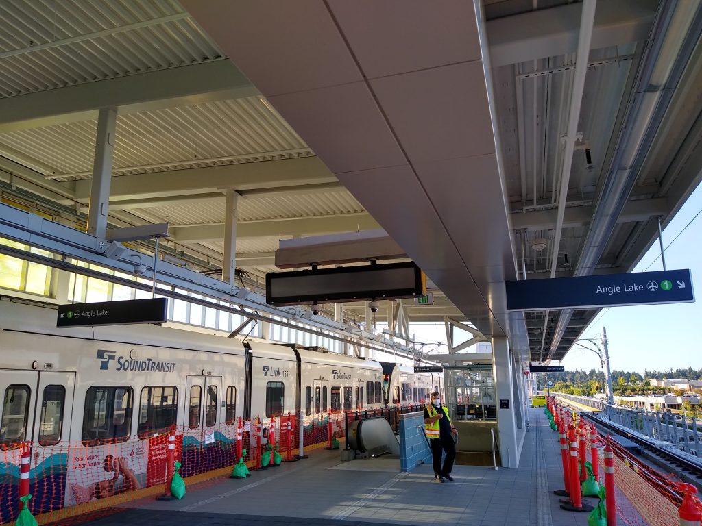
M 648 38 L 657 0 L 600 2 L 590 49 L 607 48 Z M 581 4 L 529 11 L 487 22 L 492 67 L 575 53 Z

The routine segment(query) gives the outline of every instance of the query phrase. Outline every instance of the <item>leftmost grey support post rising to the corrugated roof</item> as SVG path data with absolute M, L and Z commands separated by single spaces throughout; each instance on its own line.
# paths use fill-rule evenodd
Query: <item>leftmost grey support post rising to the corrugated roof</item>
M 93 182 L 88 209 L 88 234 L 105 239 L 107 211 L 110 208 L 110 179 L 114 152 L 114 128 L 117 125 L 117 108 L 102 108 L 98 116 L 98 133 L 95 137 Z

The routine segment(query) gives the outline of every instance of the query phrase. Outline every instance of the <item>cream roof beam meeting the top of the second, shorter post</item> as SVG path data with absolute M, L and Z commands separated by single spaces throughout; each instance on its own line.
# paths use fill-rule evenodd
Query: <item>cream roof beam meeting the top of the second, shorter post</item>
M 260 163 L 232 164 L 188 168 L 168 172 L 121 175 L 113 177 L 110 201 L 141 199 L 161 196 L 208 194 L 231 188 L 237 191 L 253 189 L 281 189 L 305 184 L 338 183 L 317 157 L 263 161 Z M 76 181 L 76 199 L 90 197 L 91 180 Z M 116 204 L 119 206 L 119 204 Z

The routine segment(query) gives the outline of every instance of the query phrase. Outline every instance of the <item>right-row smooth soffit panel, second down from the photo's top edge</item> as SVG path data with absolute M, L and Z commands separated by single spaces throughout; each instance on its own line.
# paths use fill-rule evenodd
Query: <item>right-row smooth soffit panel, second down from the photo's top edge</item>
M 412 162 L 494 153 L 482 62 L 375 79 L 371 86 Z

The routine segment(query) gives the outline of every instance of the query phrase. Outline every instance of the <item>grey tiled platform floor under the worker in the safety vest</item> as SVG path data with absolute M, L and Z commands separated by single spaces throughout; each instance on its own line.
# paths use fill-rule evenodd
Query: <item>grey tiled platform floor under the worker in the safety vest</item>
M 338 451 L 313 450 L 246 480 L 189 487 L 181 501 L 134 501 L 89 524 L 585 526 L 588 514 L 562 510 L 552 493 L 563 486 L 560 449 L 543 408 L 530 409 L 529 421 L 517 469 L 456 466 L 455 482 L 438 483 L 430 465 L 402 473 L 397 459 L 342 463 Z

